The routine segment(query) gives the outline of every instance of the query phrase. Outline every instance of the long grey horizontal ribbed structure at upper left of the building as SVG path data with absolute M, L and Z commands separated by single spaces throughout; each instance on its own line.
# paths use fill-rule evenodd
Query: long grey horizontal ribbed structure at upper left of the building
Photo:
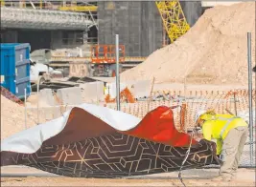
M 1 28 L 87 31 L 94 24 L 80 12 L 1 7 Z

